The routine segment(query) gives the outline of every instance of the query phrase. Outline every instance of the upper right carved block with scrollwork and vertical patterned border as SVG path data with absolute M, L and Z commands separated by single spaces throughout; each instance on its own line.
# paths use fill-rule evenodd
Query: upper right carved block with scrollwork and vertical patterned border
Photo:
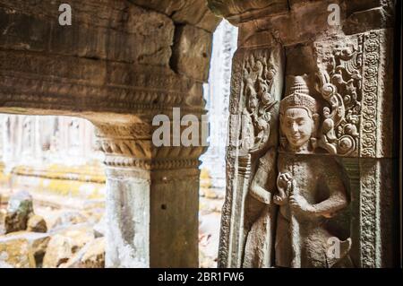
M 378 157 L 382 37 L 381 31 L 371 31 L 315 45 L 317 90 L 327 103 L 319 145 L 330 154 Z

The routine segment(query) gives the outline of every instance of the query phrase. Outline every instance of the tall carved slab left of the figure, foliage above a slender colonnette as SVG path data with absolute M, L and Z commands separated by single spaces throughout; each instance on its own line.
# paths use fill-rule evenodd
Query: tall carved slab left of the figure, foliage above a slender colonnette
M 219 263 L 223 266 L 242 264 L 242 257 L 237 254 L 242 253 L 244 247 L 244 207 L 248 205 L 250 179 L 258 158 L 265 152 L 276 153 L 284 64 L 284 50 L 279 46 L 251 51 L 241 49 L 233 61 L 227 196 L 219 250 Z

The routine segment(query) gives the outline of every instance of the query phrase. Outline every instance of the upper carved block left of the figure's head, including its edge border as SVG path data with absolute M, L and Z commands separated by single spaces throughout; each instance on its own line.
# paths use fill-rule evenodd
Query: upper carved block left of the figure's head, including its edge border
M 241 128 L 239 134 L 233 134 L 230 128 L 229 144 L 239 152 L 260 152 L 275 141 L 275 134 L 270 136 L 270 128 L 277 122 L 283 83 L 282 59 L 283 51 L 279 47 L 239 50 L 236 54 L 233 72 L 236 76 L 232 82 L 236 92 L 230 102 L 230 114 L 231 124 L 239 124 Z

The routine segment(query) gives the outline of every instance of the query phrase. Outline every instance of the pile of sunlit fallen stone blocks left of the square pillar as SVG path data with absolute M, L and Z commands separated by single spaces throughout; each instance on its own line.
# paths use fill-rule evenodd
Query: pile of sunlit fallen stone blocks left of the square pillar
M 34 212 L 28 192 L 10 196 L 0 212 L 0 268 L 105 267 L 99 212 L 39 211 L 46 217 Z

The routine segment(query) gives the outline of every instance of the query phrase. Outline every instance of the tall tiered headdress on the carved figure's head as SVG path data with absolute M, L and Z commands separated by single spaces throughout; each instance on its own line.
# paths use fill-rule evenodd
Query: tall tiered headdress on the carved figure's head
M 317 113 L 316 100 L 309 95 L 304 77 L 295 76 L 287 94 L 287 97 L 280 101 L 280 114 L 284 114 L 288 108 L 304 108 L 310 117 Z

